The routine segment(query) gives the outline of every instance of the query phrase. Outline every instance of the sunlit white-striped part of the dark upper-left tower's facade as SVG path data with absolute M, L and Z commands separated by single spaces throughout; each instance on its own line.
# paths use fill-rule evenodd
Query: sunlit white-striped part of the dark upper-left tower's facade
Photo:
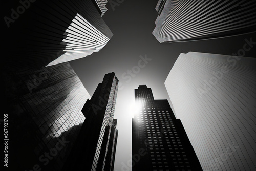
M 91 55 L 101 50 L 110 40 L 79 14 L 65 32 L 67 36 L 62 40 L 62 43 L 66 44 L 64 54 L 47 66 Z

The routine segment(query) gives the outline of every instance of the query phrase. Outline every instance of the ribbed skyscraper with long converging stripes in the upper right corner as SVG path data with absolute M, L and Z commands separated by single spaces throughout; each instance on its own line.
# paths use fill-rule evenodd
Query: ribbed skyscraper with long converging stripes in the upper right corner
M 255 32 L 256 2 L 159 0 L 153 35 L 159 42 L 193 41 Z

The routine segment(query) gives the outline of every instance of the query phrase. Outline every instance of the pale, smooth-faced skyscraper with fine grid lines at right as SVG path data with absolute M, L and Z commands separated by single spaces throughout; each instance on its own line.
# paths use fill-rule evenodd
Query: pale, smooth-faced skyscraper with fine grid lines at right
M 256 170 L 256 59 L 180 54 L 165 86 L 203 170 Z

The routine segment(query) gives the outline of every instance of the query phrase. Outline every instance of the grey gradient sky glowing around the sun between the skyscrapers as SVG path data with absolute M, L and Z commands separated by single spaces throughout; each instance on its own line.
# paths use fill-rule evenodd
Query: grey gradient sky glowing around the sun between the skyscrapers
M 99 52 L 70 61 L 71 66 L 92 96 L 105 74 L 115 72 L 119 90 L 114 118 L 119 131 L 114 170 L 132 170 L 132 117 L 134 89 L 141 84 L 152 88 L 155 99 L 170 101 L 164 81 L 180 53 L 203 52 L 232 55 L 243 48 L 245 39 L 256 41 L 255 34 L 229 38 L 160 44 L 152 34 L 158 16 L 157 0 L 112 0 L 118 6 L 102 17 L 113 37 Z M 253 57 L 255 48 L 246 52 Z

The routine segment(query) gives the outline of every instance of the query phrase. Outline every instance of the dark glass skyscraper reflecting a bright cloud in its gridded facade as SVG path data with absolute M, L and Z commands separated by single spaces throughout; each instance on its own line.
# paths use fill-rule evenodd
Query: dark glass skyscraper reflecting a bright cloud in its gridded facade
M 85 119 L 89 93 L 68 62 L 3 74 L 10 170 L 60 170 Z M 9 108 L 8 106 L 9 105 Z

